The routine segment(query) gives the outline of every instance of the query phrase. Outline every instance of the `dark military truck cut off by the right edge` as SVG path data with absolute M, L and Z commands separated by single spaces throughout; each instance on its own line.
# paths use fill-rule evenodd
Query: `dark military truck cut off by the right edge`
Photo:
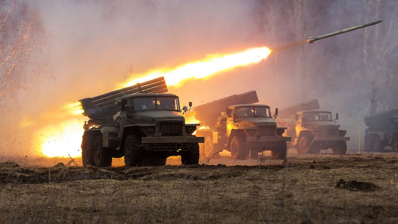
M 365 133 L 366 151 L 384 151 L 391 146 L 398 152 L 398 109 L 380 112 L 364 118 L 368 126 Z

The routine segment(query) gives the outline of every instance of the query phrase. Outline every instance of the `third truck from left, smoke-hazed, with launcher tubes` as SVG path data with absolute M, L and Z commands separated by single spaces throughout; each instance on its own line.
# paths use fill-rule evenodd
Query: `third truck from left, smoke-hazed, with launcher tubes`
M 331 112 L 318 109 L 317 100 L 295 105 L 284 110 L 285 113 L 279 116 L 278 123 L 288 127 L 287 133 L 293 138 L 291 146 L 297 148 L 299 154 L 318 154 L 321 149 L 328 148 L 332 148 L 335 155 L 345 154 L 346 141 L 350 137 L 346 137 L 347 130 L 340 129 L 337 124 L 338 113 L 333 119 Z M 295 113 L 289 115 L 286 112 Z

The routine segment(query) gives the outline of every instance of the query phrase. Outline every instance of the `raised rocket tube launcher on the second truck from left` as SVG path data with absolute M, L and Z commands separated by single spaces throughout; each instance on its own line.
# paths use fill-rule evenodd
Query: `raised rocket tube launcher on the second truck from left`
M 258 97 L 255 90 L 243 94 L 232 95 L 207 104 L 202 104 L 194 109 L 195 117 L 208 126 L 216 124 L 220 112 L 225 112 L 225 108 L 238 104 L 258 103 Z

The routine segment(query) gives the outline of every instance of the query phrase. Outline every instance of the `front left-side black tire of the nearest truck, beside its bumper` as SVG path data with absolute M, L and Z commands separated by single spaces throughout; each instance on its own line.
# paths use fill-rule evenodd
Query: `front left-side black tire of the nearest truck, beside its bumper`
M 144 149 L 140 147 L 141 137 L 128 135 L 124 142 L 124 164 L 126 167 L 141 166 Z

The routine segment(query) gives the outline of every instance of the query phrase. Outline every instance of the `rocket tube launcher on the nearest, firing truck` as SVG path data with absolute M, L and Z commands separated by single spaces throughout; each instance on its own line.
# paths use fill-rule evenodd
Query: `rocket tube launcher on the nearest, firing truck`
M 83 115 L 88 116 L 96 124 L 109 124 L 113 123 L 112 116 L 119 111 L 117 99 L 129 94 L 166 92 L 166 82 L 164 77 L 160 77 L 96 97 L 81 99 L 79 102 L 84 110 Z

